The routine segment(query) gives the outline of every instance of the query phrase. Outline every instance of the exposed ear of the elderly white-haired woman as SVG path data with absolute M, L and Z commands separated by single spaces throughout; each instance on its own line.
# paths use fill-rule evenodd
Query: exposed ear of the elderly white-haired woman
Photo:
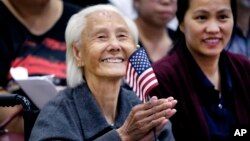
M 73 55 L 76 61 L 76 64 L 78 67 L 84 66 L 83 60 L 82 60 L 82 53 L 81 49 L 79 48 L 78 44 L 74 42 L 72 44 L 72 50 L 73 50 Z

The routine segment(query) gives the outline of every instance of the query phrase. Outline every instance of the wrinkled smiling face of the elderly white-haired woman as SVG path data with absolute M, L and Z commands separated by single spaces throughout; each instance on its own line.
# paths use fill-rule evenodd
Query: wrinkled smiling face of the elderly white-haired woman
M 97 11 L 86 22 L 78 58 L 85 77 L 123 77 L 128 57 L 136 49 L 125 21 L 114 12 Z

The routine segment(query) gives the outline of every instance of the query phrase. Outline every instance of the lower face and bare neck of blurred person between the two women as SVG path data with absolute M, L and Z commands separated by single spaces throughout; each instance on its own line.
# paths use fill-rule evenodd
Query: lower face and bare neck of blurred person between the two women
M 176 0 L 134 0 L 135 23 L 139 29 L 139 44 L 152 63 L 160 60 L 173 47 L 175 31 L 166 25 L 174 19 Z

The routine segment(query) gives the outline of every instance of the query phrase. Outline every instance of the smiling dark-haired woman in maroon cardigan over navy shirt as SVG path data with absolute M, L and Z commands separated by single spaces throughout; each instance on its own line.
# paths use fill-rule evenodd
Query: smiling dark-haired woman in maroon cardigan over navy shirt
M 154 63 L 159 87 L 173 96 L 176 140 L 234 140 L 250 125 L 250 62 L 225 50 L 236 19 L 235 0 L 179 0 L 180 39 L 175 51 Z

